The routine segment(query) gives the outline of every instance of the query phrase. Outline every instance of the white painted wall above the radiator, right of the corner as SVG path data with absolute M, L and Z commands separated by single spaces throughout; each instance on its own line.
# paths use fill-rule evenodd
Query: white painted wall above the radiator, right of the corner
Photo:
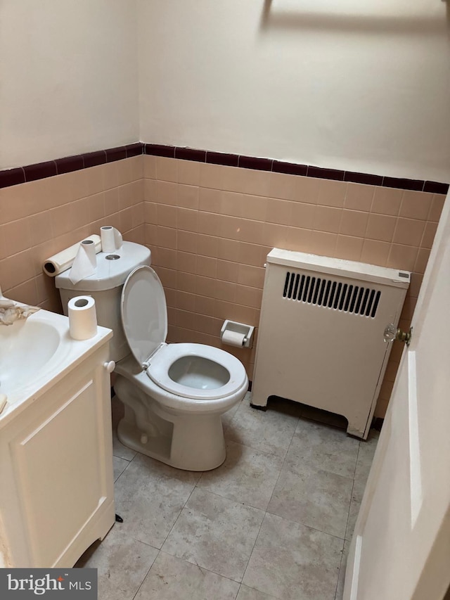
M 446 2 L 138 3 L 142 141 L 450 181 Z

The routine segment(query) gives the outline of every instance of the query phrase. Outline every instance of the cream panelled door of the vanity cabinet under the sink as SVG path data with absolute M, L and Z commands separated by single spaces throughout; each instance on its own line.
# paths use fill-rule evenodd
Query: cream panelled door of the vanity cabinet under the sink
M 84 378 L 10 442 L 33 566 L 56 563 L 108 495 L 96 388 Z

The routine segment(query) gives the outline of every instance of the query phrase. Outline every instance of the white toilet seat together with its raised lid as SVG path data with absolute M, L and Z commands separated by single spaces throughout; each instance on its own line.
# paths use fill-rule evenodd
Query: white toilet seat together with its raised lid
M 163 390 L 193 400 L 232 395 L 247 380 L 243 364 L 224 350 L 203 344 L 167 344 L 167 305 L 158 275 L 141 266 L 125 281 L 120 302 L 131 352 Z M 195 380 L 201 387 L 195 386 Z

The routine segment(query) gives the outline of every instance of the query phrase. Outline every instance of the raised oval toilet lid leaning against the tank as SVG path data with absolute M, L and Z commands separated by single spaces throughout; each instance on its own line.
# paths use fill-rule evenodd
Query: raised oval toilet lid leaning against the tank
M 120 314 L 131 352 L 142 365 L 167 337 L 166 298 L 160 278 L 151 267 L 137 267 L 127 277 Z

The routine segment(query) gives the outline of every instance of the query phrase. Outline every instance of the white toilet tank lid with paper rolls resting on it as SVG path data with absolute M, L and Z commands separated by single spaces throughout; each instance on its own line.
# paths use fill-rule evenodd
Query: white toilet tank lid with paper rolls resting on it
M 56 287 L 83 292 L 110 290 L 122 286 L 136 267 L 151 264 L 150 250 L 134 242 L 124 242 L 120 250 L 115 250 L 113 253 L 99 252 L 96 257 L 97 267 L 93 275 L 85 277 L 78 283 L 72 283 L 69 278 L 70 269 L 67 269 L 55 277 Z

